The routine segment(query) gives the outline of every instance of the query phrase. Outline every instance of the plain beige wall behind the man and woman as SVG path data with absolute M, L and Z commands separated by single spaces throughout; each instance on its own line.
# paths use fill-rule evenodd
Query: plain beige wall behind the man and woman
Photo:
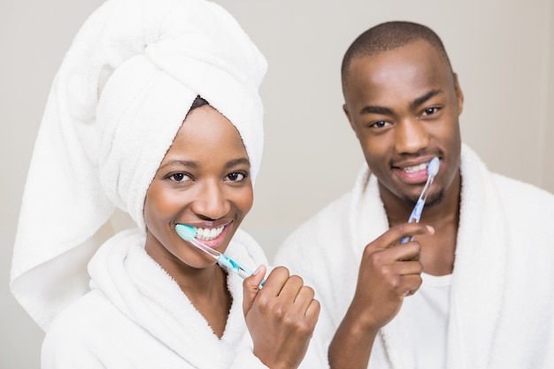
M 50 82 L 73 35 L 101 3 L 0 3 L 2 368 L 40 366 L 43 334 L 8 288 L 12 244 Z M 218 3 L 242 23 L 269 62 L 262 87 L 265 157 L 256 203 L 244 226 L 269 258 L 289 231 L 354 180 L 362 156 L 342 115 L 339 66 L 350 42 L 382 20 L 410 19 L 433 27 L 450 52 L 466 96 L 461 118 L 465 141 L 496 172 L 554 192 L 551 0 Z

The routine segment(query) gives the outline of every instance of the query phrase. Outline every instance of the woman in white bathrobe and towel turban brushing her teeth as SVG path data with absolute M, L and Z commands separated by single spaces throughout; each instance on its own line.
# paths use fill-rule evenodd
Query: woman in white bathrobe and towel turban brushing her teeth
M 50 92 L 14 249 L 12 291 L 46 330 L 42 368 L 300 365 L 319 303 L 282 267 L 258 289 L 266 260 L 239 229 L 264 75 L 204 0 L 109 0 L 89 17 Z M 137 227 L 98 249 L 116 206 Z M 256 272 L 242 281 L 177 224 Z

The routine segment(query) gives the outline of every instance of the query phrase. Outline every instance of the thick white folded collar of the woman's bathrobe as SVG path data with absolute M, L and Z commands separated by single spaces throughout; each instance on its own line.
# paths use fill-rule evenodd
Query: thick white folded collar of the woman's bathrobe
M 91 275 L 119 310 L 191 367 L 205 367 L 209 360 L 212 368 L 227 368 L 246 332 L 242 279 L 227 277 L 233 304 L 219 339 L 177 283 L 144 252 L 141 235 L 124 233 L 109 242 L 95 257 L 104 258 L 104 263 L 91 263 Z

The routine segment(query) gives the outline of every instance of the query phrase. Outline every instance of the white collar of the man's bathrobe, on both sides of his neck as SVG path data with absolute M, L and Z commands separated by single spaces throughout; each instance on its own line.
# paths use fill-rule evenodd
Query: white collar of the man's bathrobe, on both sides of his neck
M 504 290 L 504 209 L 490 174 L 466 146 L 462 150 L 462 200 L 448 337 L 448 368 L 486 368 Z M 361 258 L 365 244 L 389 228 L 376 178 L 365 168 L 350 204 L 352 247 Z M 486 215 L 485 215 L 486 214 Z M 385 361 L 381 360 L 384 358 Z M 414 349 L 400 316 L 380 331 L 370 368 L 414 369 Z

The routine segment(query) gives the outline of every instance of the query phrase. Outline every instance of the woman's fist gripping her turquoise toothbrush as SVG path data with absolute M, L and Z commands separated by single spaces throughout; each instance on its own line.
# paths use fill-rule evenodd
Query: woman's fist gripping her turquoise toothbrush
M 265 266 L 242 284 L 242 308 L 254 342 L 254 355 L 270 368 L 296 368 L 302 362 L 319 318 L 314 291 L 297 275 L 279 266 L 258 288 Z

